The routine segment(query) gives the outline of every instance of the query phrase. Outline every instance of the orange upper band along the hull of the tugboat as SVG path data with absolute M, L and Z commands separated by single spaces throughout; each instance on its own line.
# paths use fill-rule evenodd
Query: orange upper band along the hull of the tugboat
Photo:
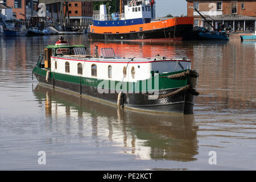
M 179 17 L 158 22 L 135 24 L 131 26 L 98 27 L 91 26 L 90 32 L 94 34 L 124 34 L 129 32 L 150 31 L 162 28 L 174 27 L 182 24 L 193 24 L 193 17 Z

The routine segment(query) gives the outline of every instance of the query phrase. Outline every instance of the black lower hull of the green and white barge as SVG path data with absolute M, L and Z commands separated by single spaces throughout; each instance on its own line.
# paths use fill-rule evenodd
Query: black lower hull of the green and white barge
M 51 85 L 54 88 L 65 89 L 77 94 L 89 96 L 93 100 L 117 105 L 118 93 L 111 93 L 110 90 L 109 93 L 100 94 L 95 86 L 74 84 L 71 82 L 53 80 L 52 78 L 49 78 L 49 81 L 47 82 L 45 76 L 38 75 L 35 72 L 34 75 L 39 82 Z M 160 90 L 159 94 L 170 93 L 174 90 L 176 89 Z M 123 106 L 129 109 L 150 112 L 193 114 L 194 99 L 195 96 L 187 90 L 181 91 L 175 94 L 175 96 L 157 98 L 156 100 L 148 100 L 148 96 L 144 93 L 125 93 L 123 95 Z

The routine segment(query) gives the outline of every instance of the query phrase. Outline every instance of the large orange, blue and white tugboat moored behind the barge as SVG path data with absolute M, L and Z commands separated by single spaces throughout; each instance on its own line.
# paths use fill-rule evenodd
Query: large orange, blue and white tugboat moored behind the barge
M 122 3 L 122 2 L 121 2 Z M 131 0 L 124 13 L 106 14 L 106 5 L 100 5 L 100 14 L 93 16 L 88 38 L 92 40 L 183 40 L 193 32 L 193 17 L 155 19 L 155 1 Z

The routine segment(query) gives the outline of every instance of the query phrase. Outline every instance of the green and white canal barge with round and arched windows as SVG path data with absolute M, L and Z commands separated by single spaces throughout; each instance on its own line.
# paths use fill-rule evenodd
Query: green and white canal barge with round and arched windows
M 47 46 L 32 74 L 53 88 L 140 111 L 191 114 L 199 94 L 199 74 L 186 57 L 126 58 L 113 48 L 88 55 L 82 45 Z

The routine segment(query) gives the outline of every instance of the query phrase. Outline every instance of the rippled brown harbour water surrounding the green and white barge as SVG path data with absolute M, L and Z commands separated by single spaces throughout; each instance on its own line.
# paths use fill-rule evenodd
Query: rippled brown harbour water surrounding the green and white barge
M 255 42 L 70 44 L 113 47 L 118 56 L 192 60 L 199 72 L 193 115 L 118 110 L 32 80 L 57 36 L 0 38 L 0 169 L 255 170 Z M 92 49 L 90 49 L 92 47 Z M 46 165 L 38 152 L 46 152 Z M 217 164 L 210 165 L 209 151 Z

